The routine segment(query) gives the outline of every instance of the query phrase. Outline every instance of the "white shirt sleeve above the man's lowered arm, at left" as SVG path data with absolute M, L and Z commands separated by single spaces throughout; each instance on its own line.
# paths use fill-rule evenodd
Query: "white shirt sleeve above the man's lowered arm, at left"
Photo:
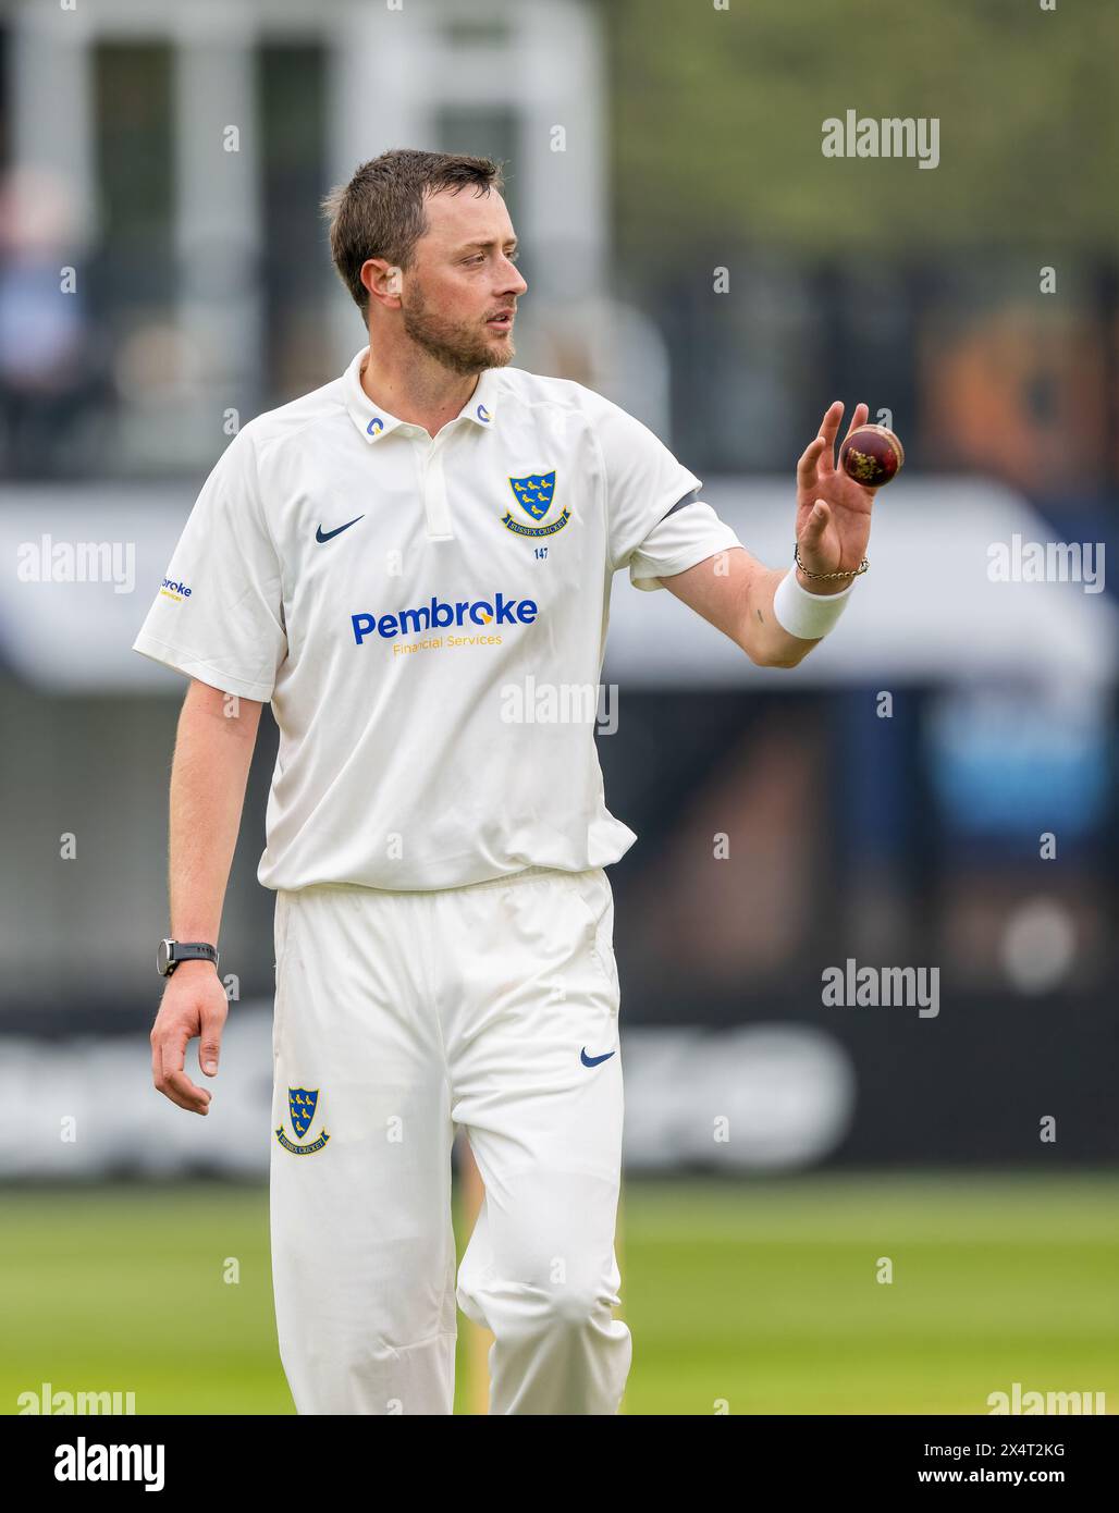
M 237 433 L 203 484 L 132 649 L 263 704 L 287 634 L 250 431 Z

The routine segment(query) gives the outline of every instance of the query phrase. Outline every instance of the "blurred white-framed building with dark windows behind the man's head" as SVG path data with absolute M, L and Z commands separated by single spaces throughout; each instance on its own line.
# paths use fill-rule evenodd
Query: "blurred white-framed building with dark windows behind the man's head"
M 42 294 L 29 271 L 8 304 L 35 297 L 54 324 L 59 307 L 80 319 L 82 353 L 73 336 L 65 353 L 56 340 L 54 363 L 100 378 L 97 434 L 71 434 L 65 448 L 39 404 L 30 445 L 41 474 L 71 475 L 76 446 L 86 475 L 192 472 L 222 443 L 227 410 L 248 418 L 342 371 L 360 316 L 330 265 L 318 206 L 390 147 L 508 165 L 532 290 L 519 362 L 625 395 L 664 427 L 655 328 L 609 298 L 593 8 L 26 3 L 12 8 L 5 54 L 8 168 L 36 180 L 20 204 L 9 197 L 9 283 L 14 244 L 36 235 L 24 221 L 39 219 L 42 195 L 65 209 L 48 241 L 38 238 Z M 57 298 L 59 266 L 74 269 L 70 301 Z M 3 309 L 0 286 L 0 357 Z M 36 319 L 42 342 L 47 325 Z M 36 393 L 29 383 L 32 407 Z M 9 475 L 17 395 L 14 374 Z

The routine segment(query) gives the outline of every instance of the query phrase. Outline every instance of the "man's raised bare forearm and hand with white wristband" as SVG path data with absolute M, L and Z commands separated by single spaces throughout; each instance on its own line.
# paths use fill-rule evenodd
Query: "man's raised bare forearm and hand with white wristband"
M 829 407 L 820 436 L 797 464 L 795 539 L 806 570 L 765 567 L 745 548 L 733 546 L 685 572 L 661 576 L 670 593 L 729 635 L 759 667 L 795 667 L 820 645 L 842 613 L 863 560 L 874 490 L 835 464 L 842 413 L 839 401 Z M 856 405 L 848 434 L 868 415 L 865 404 Z

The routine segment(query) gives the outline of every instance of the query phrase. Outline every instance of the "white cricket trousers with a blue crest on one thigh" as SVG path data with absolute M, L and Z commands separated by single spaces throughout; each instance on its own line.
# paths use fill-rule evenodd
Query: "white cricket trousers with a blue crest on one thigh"
M 455 1300 L 490 1413 L 617 1413 L 621 1047 L 602 867 L 278 891 L 271 1230 L 298 1413 L 451 1413 Z M 485 1200 L 455 1285 L 451 1145 Z

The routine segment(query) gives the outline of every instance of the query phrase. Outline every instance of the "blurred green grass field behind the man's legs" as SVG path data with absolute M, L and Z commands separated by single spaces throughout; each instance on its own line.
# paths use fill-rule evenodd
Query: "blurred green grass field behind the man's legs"
M 623 1412 L 986 1413 L 1015 1381 L 1114 1412 L 1117 1197 L 1110 1174 L 631 1182 Z M 265 1189 L 8 1189 L 3 1216 L 0 1412 L 42 1381 L 139 1413 L 293 1412 Z

